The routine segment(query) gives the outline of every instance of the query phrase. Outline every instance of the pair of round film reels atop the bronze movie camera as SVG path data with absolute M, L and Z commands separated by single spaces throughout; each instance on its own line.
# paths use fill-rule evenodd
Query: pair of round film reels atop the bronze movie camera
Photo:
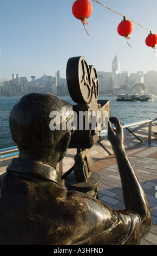
M 93 97 L 97 101 L 99 83 L 94 66 L 89 66 L 84 57 L 73 57 L 67 63 L 67 84 L 71 98 L 76 103 L 90 103 Z

